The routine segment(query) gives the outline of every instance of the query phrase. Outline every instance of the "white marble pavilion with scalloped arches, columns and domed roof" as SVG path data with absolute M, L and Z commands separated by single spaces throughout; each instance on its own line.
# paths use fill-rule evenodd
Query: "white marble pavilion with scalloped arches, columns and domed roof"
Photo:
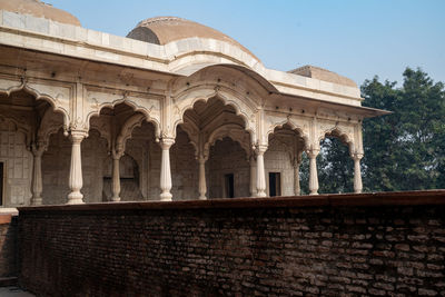
M 38 0 L 0 1 L 1 205 L 299 195 L 301 154 L 339 137 L 362 191 L 352 80 L 267 69 L 206 26 L 147 19 L 126 38 Z

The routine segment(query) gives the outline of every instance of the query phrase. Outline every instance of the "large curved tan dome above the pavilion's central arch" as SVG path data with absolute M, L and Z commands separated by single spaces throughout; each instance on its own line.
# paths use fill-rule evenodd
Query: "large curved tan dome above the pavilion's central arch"
M 127 37 L 160 46 L 192 37 L 211 38 L 238 47 L 258 60 L 255 55 L 238 43 L 238 41 L 218 30 L 176 17 L 157 17 L 140 21 Z

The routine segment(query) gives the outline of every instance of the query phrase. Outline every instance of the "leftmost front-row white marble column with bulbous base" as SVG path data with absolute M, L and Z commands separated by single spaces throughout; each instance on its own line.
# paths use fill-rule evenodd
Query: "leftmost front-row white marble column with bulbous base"
M 71 192 L 68 195 L 68 205 L 83 204 L 83 195 L 80 189 L 83 186 L 82 179 L 82 159 L 80 143 L 87 136 L 85 131 L 71 131 L 71 165 L 68 186 Z

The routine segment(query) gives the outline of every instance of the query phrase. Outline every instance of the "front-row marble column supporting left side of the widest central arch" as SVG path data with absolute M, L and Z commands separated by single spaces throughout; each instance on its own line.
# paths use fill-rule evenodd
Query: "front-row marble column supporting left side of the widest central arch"
M 170 170 L 170 147 L 175 143 L 172 138 L 162 138 L 159 142 L 162 149 L 160 164 L 160 200 L 171 201 L 171 170 Z

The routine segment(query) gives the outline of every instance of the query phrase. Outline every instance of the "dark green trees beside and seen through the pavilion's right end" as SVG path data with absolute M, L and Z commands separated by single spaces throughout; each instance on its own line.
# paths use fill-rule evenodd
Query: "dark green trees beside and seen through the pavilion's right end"
M 362 86 L 364 106 L 393 111 L 363 125 L 365 191 L 445 188 L 445 90 L 421 69 L 407 68 L 404 82 Z M 320 143 L 317 158 L 319 192 L 353 191 L 354 165 L 338 139 Z M 308 164 L 301 165 L 301 188 L 307 192 Z

